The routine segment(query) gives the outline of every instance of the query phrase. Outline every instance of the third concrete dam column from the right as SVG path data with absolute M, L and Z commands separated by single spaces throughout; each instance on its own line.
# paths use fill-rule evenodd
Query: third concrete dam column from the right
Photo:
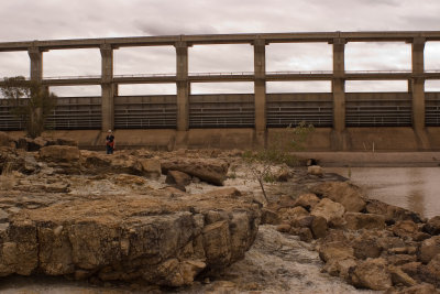
M 266 144 L 266 42 L 257 39 L 254 46 L 254 104 L 255 104 L 255 143 Z

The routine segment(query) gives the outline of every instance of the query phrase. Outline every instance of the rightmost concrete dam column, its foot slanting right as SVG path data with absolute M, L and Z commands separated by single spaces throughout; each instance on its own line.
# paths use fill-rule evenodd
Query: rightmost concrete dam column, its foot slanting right
M 408 90 L 413 97 L 413 128 L 416 132 L 419 149 L 429 149 L 429 140 L 425 128 L 425 37 L 415 37 L 411 44 L 413 78 Z

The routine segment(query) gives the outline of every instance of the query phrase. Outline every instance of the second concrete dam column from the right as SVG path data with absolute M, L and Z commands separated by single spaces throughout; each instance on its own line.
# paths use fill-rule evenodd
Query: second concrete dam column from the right
M 346 150 L 345 135 L 345 40 L 333 40 L 333 130 L 331 145 L 333 150 Z

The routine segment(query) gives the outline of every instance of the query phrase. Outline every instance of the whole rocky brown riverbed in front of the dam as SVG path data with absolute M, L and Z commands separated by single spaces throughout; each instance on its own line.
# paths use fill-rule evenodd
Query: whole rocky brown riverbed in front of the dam
M 440 218 L 241 151 L 113 155 L 0 133 L 2 293 L 433 293 Z

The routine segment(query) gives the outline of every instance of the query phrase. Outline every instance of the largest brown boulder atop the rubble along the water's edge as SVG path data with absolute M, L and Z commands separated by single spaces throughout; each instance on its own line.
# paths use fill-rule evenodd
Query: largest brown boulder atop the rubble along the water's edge
M 360 188 L 346 182 L 326 182 L 311 192 L 343 205 L 346 211 L 359 213 L 365 208 Z

